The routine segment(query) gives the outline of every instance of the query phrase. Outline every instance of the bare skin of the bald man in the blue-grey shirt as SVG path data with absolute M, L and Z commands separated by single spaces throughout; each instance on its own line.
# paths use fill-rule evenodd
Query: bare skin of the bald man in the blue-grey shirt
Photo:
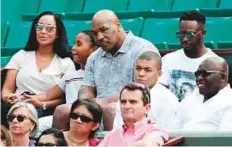
M 104 51 L 111 53 L 112 56 L 121 48 L 126 37 L 126 33 L 123 30 L 117 16 L 110 10 L 101 10 L 94 15 L 92 19 L 92 32 L 100 47 Z M 100 104 L 103 109 L 104 129 L 112 129 L 116 102 L 119 95 L 96 98 L 96 87 L 82 86 L 78 92 L 78 97 L 95 99 L 95 101 Z

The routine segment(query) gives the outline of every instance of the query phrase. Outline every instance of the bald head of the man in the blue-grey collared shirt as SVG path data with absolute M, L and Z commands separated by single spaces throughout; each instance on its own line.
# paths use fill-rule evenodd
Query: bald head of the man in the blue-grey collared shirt
M 112 54 L 121 47 L 126 33 L 111 10 L 100 10 L 92 19 L 92 31 L 100 47 Z

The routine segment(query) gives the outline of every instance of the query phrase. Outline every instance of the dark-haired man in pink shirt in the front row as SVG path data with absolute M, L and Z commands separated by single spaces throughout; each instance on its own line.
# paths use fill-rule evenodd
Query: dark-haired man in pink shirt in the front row
M 140 83 L 126 85 L 120 93 L 124 125 L 111 131 L 99 146 L 159 146 L 168 134 L 146 119 L 150 109 L 149 88 Z

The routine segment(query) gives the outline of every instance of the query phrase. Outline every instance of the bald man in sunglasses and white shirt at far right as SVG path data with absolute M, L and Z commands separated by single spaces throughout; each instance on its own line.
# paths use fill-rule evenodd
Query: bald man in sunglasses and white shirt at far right
M 228 65 L 221 57 L 204 60 L 195 72 L 200 94 L 182 101 L 182 130 L 232 131 L 232 89 Z

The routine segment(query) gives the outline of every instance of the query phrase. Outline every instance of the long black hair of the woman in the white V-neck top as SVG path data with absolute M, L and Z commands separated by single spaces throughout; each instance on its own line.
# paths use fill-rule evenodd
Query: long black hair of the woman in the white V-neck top
M 39 43 L 36 39 L 36 30 L 35 25 L 38 23 L 39 19 L 44 15 L 52 15 L 56 21 L 56 29 L 57 29 L 57 37 L 53 44 L 53 51 L 60 56 L 61 58 L 68 57 L 68 38 L 67 33 L 64 27 L 64 24 L 59 15 L 51 12 L 51 11 L 44 11 L 40 13 L 32 22 L 30 35 L 26 46 L 24 47 L 25 51 L 36 51 L 39 47 Z

